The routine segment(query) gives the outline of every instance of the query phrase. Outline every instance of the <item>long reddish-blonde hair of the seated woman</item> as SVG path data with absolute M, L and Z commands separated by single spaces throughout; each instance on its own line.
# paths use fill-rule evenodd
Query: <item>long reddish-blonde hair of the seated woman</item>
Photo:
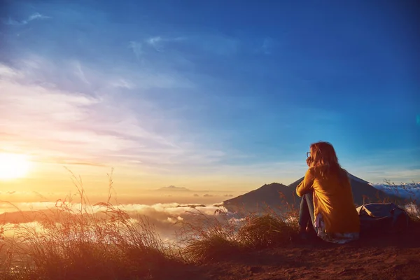
M 311 165 L 319 167 L 321 176 L 337 174 L 339 180 L 348 180 L 347 172 L 339 165 L 337 154 L 334 147 L 324 141 L 311 144 Z

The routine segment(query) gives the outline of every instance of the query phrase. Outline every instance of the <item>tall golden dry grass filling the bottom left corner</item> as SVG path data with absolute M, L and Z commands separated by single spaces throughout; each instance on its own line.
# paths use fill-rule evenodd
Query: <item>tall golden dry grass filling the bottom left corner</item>
M 111 176 L 108 201 L 95 205 L 72 179 L 80 203 L 67 197 L 40 225 L 13 226 L 14 238 L 0 246 L 1 279 L 149 279 L 179 262 L 146 218 L 111 204 Z

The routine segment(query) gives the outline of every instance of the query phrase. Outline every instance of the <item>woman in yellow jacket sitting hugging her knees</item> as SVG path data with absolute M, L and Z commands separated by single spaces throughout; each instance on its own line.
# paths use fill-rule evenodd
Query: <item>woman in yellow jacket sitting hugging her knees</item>
M 296 187 L 300 202 L 300 237 L 312 226 L 318 237 L 333 243 L 346 243 L 359 237 L 360 221 L 346 170 L 328 142 L 311 144 L 307 153 L 309 169 Z

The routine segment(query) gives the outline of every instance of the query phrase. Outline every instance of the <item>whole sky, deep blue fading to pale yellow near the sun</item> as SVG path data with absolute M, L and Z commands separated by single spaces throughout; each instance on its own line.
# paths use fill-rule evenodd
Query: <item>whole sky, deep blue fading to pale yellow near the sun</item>
M 2 191 L 420 181 L 416 1 L 1 1 Z

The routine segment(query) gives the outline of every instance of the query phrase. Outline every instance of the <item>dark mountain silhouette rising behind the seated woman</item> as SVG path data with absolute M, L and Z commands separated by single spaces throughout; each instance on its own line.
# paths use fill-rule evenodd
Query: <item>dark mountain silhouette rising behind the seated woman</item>
M 286 211 L 290 207 L 299 206 L 300 197 L 296 195 L 296 187 L 303 179 L 304 177 L 288 186 L 281 183 L 264 185 L 244 195 L 225 200 L 223 205 L 229 211 L 260 211 L 267 207 L 280 212 Z M 352 174 L 349 174 L 349 179 L 354 203 L 357 205 L 361 205 L 363 202 L 378 202 L 386 198 L 399 200 L 398 197 L 387 195 L 382 190 L 374 188 L 367 181 Z

